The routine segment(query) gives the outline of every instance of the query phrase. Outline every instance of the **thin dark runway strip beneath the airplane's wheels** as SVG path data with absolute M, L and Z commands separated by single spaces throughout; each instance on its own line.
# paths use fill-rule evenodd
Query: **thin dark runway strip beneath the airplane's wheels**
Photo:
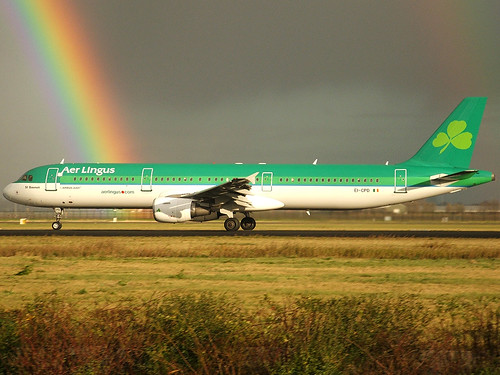
M 30 237 L 392 237 L 392 238 L 500 238 L 500 231 L 448 230 L 254 230 L 226 232 L 224 230 L 0 230 L 0 236 Z

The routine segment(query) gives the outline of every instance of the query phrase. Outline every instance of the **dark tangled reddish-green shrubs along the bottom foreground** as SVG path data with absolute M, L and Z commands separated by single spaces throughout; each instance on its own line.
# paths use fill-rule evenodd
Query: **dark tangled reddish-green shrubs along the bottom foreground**
M 418 297 L 166 294 L 79 308 L 36 300 L 0 312 L 3 374 L 494 373 L 498 307 Z

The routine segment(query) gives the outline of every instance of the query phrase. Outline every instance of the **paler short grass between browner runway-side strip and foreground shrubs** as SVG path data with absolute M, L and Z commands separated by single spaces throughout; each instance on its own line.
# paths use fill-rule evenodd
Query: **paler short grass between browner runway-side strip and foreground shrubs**
M 413 293 L 429 301 L 448 295 L 498 303 L 499 265 L 498 259 L 15 255 L 0 264 L 0 306 L 19 307 L 44 295 L 107 304 L 173 291 L 237 294 L 246 306 L 266 294 L 285 300 Z M 29 274 L 18 275 L 28 268 Z

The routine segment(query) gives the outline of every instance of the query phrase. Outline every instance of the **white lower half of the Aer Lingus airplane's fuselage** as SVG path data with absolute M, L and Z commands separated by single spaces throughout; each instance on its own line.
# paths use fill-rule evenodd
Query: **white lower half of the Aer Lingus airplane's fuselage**
M 63 185 L 47 191 L 45 184 L 12 183 L 4 190 L 7 199 L 38 207 L 61 208 L 151 208 L 158 197 L 192 193 L 214 185 L 154 185 L 142 191 L 139 185 Z M 398 204 L 461 190 L 457 187 L 427 186 L 395 192 L 393 186 L 280 186 L 271 191 L 257 185 L 249 195 L 283 203 L 283 209 L 348 210 Z M 275 209 L 256 207 L 249 211 Z

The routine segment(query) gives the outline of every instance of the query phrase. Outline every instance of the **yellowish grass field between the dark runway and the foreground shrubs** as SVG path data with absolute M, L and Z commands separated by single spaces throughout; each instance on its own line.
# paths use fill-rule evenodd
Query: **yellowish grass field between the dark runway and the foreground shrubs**
M 114 303 L 163 292 L 411 293 L 500 298 L 500 241 L 433 238 L 4 237 L 0 306 L 35 296 Z M 23 272 L 24 271 L 24 272 Z

